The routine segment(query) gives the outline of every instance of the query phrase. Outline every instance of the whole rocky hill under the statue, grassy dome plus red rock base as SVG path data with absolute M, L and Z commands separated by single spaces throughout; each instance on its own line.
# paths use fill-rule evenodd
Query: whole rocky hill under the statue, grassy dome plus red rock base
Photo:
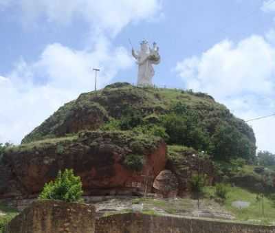
M 254 159 L 254 133 L 205 93 L 115 83 L 81 94 L 6 150 L 0 198 L 36 196 L 64 168 L 80 175 L 86 195 L 151 192 L 168 169 L 184 195 L 198 151 L 211 184 L 212 159 Z

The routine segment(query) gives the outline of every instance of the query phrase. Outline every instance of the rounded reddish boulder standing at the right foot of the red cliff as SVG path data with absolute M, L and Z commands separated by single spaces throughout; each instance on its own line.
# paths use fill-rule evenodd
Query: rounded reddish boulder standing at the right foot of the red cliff
M 177 197 L 179 183 L 170 170 L 162 170 L 155 178 L 153 188 L 158 197 Z

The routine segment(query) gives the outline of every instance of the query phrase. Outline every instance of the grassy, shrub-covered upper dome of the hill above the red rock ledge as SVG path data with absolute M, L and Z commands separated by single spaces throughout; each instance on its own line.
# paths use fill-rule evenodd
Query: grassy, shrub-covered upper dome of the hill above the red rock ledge
M 58 109 L 22 143 L 98 129 L 159 136 L 167 144 L 205 151 L 215 159 L 255 159 L 255 137 L 250 126 L 211 96 L 128 83 L 81 94 Z

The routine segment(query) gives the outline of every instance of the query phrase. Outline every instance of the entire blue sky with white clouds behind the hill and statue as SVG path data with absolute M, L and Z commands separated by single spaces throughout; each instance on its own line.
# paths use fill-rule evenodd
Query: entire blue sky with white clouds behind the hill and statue
M 275 113 L 275 1 L 0 0 L 0 142 L 99 85 L 136 82 L 129 38 L 160 47 L 156 85 L 213 96 L 244 120 Z M 275 118 L 250 122 L 275 153 Z

